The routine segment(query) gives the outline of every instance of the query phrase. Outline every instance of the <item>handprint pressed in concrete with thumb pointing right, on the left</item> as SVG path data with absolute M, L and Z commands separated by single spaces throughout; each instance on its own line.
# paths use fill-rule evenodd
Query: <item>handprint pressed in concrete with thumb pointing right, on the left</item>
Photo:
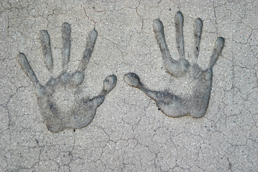
M 87 96 L 82 93 L 80 85 L 84 81 L 85 70 L 95 45 L 97 31 L 93 29 L 89 33 L 82 61 L 77 71 L 73 74 L 66 72 L 70 55 L 70 32 L 70 25 L 64 23 L 62 25 L 62 73 L 58 78 L 51 77 L 45 86 L 41 85 L 36 78 L 26 56 L 23 53 L 19 53 L 17 56 L 17 60 L 23 71 L 35 86 L 35 94 L 38 99 L 41 114 L 48 129 L 52 132 L 59 132 L 65 128 L 78 129 L 87 126 L 94 118 L 96 109 L 102 104 L 105 95 L 117 84 L 117 77 L 110 75 L 104 79 L 103 89 L 98 96 L 88 99 Z M 40 40 L 43 47 L 44 61 L 48 70 L 52 72 L 53 58 L 47 30 L 41 30 Z M 75 95 L 75 100 L 69 110 L 63 110 L 63 108 L 57 105 L 56 93 L 60 92 L 60 90 L 69 90 Z

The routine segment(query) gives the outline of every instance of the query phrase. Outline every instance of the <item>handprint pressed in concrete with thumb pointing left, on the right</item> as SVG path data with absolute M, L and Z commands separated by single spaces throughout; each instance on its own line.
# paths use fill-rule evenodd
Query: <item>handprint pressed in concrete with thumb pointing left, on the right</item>
M 194 24 L 194 54 L 199 55 L 199 45 L 202 35 L 202 20 L 197 18 Z M 183 15 L 178 11 L 175 15 L 176 43 L 179 52 L 178 60 L 171 57 L 165 41 L 163 24 L 159 19 L 153 21 L 153 29 L 156 34 L 166 71 L 176 78 L 183 79 L 188 83 L 189 94 L 176 95 L 167 90 L 152 91 L 140 82 L 140 78 L 134 73 L 124 76 L 125 82 L 142 90 L 146 95 L 156 101 L 156 104 L 164 114 L 169 117 L 192 116 L 201 118 L 205 115 L 210 98 L 212 84 L 212 67 L 221 54 L 224 47 L 224 38 L 219 37 L 215 43 L 209 66 L 202 70 L 198 64 L 190 64 L 185 59 L 185 48 L 183 41 Z

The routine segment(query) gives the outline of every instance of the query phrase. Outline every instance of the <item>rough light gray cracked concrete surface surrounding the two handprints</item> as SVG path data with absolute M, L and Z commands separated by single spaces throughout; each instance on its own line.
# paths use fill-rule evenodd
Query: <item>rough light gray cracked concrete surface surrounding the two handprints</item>
M 257 8 L 254 0 L 1 1 L 0 171 L 257 171 Z M 178 11 L 183 15 L 184 45 L 179 52 Z M 194 52 L 198 18 L 200 51 Z M 178 61 L 184 53 L 201 71 L 210 66 L 216 40 L 225 39 L 201 118 L 168 117 L 153 99 L 124 81 L 134 73 L 149 90 L 191 94 L 188 79 L 167 73 L 153 29 L 156 19 L 163 23 L 171 57 Z M 92 54 L 83 61 L 94 29 Z M 50 49 L 44 51 L 41 40 L 47 45 L 47 35 Z M 17 55 L 35 75 L 26 75 Z M 61 112 L 74 108 L 76 99 L 89 100 L 112 89 L 115 80 L 107 76 L 116 76 L 117 84 L 87 126 L 63 125 L 64 130 L 52 132 L 34 85 L 38 80 L 48 86 L 53 78 L 61 79 L 64 70 L 68 78 L 78 72 L 84 77 L 73 78 L 80 89 L 60 82 L 50 87 L 55 95 L 46 96 Z M 84 108 L 80 102 L 77 106 Z

